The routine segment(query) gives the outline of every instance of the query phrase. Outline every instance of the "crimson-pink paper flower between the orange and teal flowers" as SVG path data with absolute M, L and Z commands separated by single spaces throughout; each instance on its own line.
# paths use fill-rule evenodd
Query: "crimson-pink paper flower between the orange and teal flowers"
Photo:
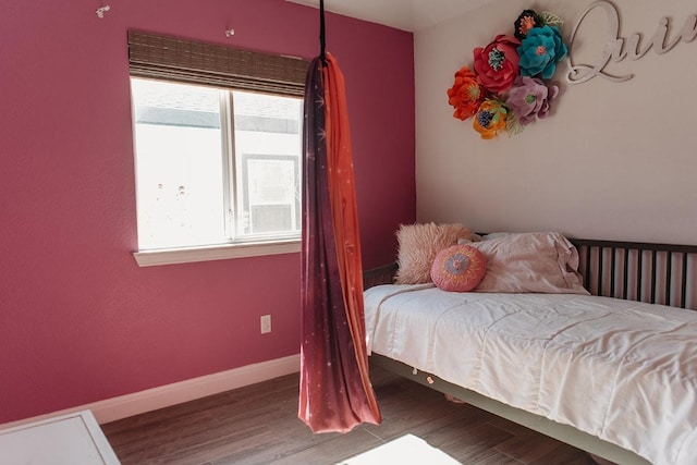
M 474 50 L 474 69 L 484 88 L 499 94 L 511 87 L 519 74 L 519 45 L 521 40 L 513 36 L 498 35 L 485 48 L 477 47 Z

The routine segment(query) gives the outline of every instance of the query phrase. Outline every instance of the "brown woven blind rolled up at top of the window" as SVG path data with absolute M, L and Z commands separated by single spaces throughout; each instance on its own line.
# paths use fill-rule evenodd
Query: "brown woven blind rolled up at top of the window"
M 131 75 L 303 96 L 309 63 L 225 46 L 129 30 Z

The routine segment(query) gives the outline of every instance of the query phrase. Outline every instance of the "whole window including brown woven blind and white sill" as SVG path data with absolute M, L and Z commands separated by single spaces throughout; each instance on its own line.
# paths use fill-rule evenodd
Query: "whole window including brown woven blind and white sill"
M 140 33 L 129 42 L 138 262 L 299 249 L 306 62 Z M 245 69 L 256 58 L 260 71 Z M 152 261 L 162 250 L 179 258 Z

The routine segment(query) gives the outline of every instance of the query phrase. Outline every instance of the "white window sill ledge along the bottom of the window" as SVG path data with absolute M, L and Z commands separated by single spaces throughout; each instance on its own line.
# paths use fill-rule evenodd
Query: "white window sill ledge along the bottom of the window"
M 160 265 L 260 257 L 264 255 L 293 254 L 297 252 L 301 252 L 299 240 L 144 250 L 134 252 L 133 257 L 137 261 L 138 267 L 156 267 Z

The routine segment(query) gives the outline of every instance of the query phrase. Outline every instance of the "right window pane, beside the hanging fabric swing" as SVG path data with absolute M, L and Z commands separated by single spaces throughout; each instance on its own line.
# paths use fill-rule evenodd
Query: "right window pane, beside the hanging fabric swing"
M 241 237 L 299 235 L 299 98 L 233 91 Z

